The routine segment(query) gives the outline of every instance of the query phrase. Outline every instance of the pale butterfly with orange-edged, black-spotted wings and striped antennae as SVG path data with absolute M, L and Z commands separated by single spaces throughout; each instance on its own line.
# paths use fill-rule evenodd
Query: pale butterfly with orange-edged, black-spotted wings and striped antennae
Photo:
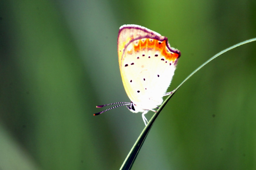
M 145 114 L 156 112 L 155 108 L 163 102 L 163 96 L 171 84 L 174 71 L 180 57 L 180 51 L 172 48 L 167 37 L 139 25 L 123 25 L 117 38 L 118 62 L 124 89 L 131 102 L 117 102 L 96 107 L 124 106 L 133 113 L 142 112 L 142 119 L 147 126 Z

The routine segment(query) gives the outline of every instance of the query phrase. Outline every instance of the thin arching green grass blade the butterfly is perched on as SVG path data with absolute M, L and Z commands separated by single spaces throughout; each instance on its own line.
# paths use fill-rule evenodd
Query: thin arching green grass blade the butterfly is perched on
M 148 122 L 148 125 L 142 130 L 140 136 L 138 137 L 138 139 L 136 140 L 136 142 L 134 143 L 131 151 L 129 152 L 129 154 L 127 155 L 126 159 L 123 162 L 123 165 L 121 166 L 120 169 L 124 170 L 124 169 L 131 169 L 132 165 L 140 151 L 140 148 L 142 146 L 142 144 L 144 143 L 149 130 L 151 129 L 153 123 L 156 120 L 156 117 L 159 115 L 159 113 L 161 112 L 161 110 L 164 108 L 164 106 L 166 105 L 166 103 L 171 99 L 171 97 L 173 96 L 173 94 L 191 77 L 193 76 L 198 70 L 200 70 L 202 67 L 204 67 L 206 64 L 210 63 L 212 60 L 214 60 L 215 58 L 219 57 L 220 55 L 228 52 L 229 50 L 239 47 L 241 45 L 247 44 L 249 42 L 253 42 L 256 41 L 256 38 L 252 38 L 243 42 L 240 42 L 236 45 L 233 45 L 223 51 L 220 51 L 218 54 L 214 55 L 213 57 L 211 57 L 209 60 L 207 60 L 205 63 L 203 63 L 201 66 L 199 66 L 195 71 L 193 71 L 187 78 L 185 78 L 183 80 L 183 82 L 180 83 L 180 85 L 173 90 L 172 94 L 170 94 L 166 100 L 164 100 L 164 102 L 162 103 L 162 105 L 159 107 L 159 109 L 157 110 L 157 112 L 152 116 L 152 118 L 150 119 L 150 121 Z

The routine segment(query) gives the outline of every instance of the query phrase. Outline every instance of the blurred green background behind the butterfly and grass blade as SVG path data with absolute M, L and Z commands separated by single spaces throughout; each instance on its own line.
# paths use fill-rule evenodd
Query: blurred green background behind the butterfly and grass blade
M 181 51 L 168 91 L 256 37 L 255 0 L 0 2 L 0 169 L 118 169 L 142 129 L 117 58 L 124 24 Z M 146 116 L 149 119 L 153 112 Z M 197 72 L 156 119 L 133 169 L 256 169 L 256 43 Z

